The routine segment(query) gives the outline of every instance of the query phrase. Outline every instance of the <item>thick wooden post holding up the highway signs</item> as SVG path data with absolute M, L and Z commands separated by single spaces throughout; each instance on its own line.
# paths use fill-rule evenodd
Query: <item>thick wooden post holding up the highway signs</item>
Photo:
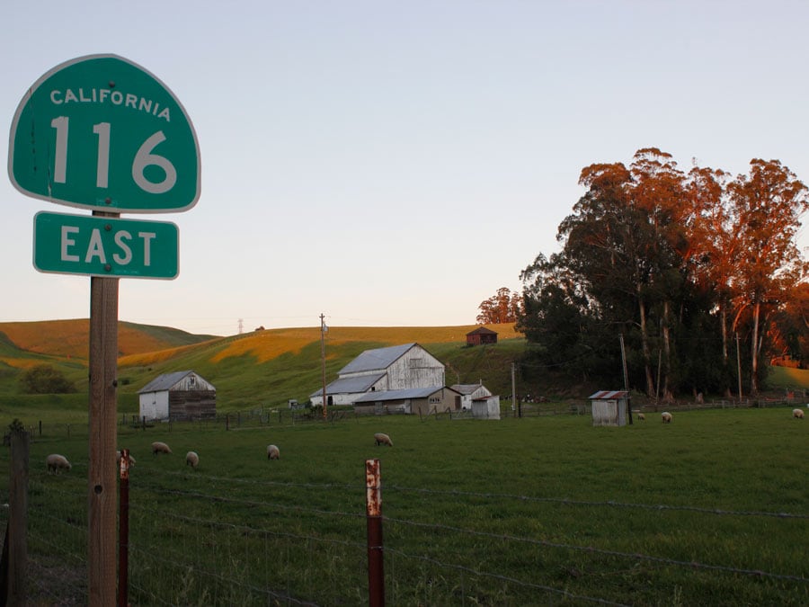
M 96 211 L 95 214 L 98 214 Z M 110 214 L 118 217 L 117 214 Z M 90 279 L 88 555 L 91 607 L 115 604 L 118 281 Z

